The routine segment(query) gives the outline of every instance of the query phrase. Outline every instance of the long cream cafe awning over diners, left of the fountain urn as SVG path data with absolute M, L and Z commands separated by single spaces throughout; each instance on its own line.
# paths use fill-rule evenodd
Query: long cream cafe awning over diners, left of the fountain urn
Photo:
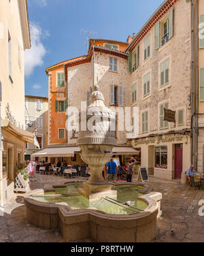
M 32 157 L 74 157 L 75 152 L 80 152 L 77 146 L 66 148 L 46 148 L 33 153 Z

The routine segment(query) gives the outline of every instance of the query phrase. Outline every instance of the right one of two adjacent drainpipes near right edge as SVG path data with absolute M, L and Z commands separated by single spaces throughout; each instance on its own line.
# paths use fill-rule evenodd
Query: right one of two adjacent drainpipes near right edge
M 199 113 L 199 1 L 197 0 L 197 15 L 196 15 L 196 84 L 197 84 L 197 102 L 196 102 L 196 112 Z M 196 115 L 196 140 L 195 140 L 195 168 L 198 167 L 198 138 L 199 138 L 199 115 Z

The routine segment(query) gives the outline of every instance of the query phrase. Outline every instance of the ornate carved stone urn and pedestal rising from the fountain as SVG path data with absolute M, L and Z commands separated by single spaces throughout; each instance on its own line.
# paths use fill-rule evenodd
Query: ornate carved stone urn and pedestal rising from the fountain
M 90 168 L 90 178 L 83 183 L 80 193 L 89 199 L 98 199 L 106 195 L 115 197 L 116 191 L 104 180 L 102 172 L 105 164 L 112 157 L 112 148 L 117 144 L 116 131 L 112 125 L 116 122 L 116 114 L 105 106 L 104 97 L 99 91 L 99 85 L 91 94 L 91 104 L 86 112 L 81 112 L 78 146 L 80 156 Z M 82 120 L 82 116 L 85 116 Z M 86 123 L 86 131 L 82 131 L 82 122 Z

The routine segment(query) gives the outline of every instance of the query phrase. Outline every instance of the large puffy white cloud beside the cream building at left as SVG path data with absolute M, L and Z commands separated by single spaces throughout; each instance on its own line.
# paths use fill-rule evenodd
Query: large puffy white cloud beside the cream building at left
M 43 33 L 41 27 L 34 23 L 30 25 L 31 29 L 31 49 L 24 52 L 24 69 L 25 76 L 29 77 L 33 74 L 35 67 L 41 66 L 44 63 L 44 56 L 46 54 L 46 48 L 41 42 L 42 38 L 48 37 L 49 33 Z

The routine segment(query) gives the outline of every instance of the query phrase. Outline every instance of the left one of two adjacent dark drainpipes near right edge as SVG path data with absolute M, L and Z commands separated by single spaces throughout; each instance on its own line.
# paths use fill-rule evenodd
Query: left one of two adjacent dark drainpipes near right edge
M 192 118 L 191 118 L 191 164 L 193 163 L 194 153 L 194 0 L 191 0 L 191 87 L 192 87 Z

